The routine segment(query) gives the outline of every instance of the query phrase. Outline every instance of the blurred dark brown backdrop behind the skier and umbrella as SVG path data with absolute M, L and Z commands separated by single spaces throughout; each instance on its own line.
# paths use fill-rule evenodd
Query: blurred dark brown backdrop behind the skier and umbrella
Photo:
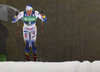
M 44 10 L 48 22 L 43 25 L 43 43 L 41 20 L 37 20 L 38 61 L 100 60 L 100 0 L 0 0 L 0 4 L 20 11 L 28 4 Z M 23 22 L 19 21 L 19 41 L 17 23 L 1 22 L 9 32 L 5 37 L 7 61 L 24 61 Z

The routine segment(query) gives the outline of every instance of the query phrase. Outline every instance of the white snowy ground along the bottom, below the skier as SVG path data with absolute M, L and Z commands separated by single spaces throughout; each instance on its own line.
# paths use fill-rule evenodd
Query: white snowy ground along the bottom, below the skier
M 100 61 L 0 62 L 0 72 L 100 72 Z

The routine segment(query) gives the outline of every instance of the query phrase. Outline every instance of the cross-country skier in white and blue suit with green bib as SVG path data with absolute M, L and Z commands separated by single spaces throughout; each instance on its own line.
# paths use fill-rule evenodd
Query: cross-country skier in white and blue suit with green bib
M 36 48 L 36 37 L 37 37 L 37 18 L 44 22 L 47 22 L 47 17 L 44 14 L 40 14 L 37 10 L 33 10 L 32 6 L 29 4 L 26 6 L 25 11 L 20 12 L 17 16 L 13 17 L 12 23 L 15 23 L 19 19 L 23 18 L 23 37 L 25 40 L 25 58 L 29 61 L 29 47 L 32 47 L 32 52 L 34 54 L 33 60 L 36 61 L 37 58 L 37 48 Z

